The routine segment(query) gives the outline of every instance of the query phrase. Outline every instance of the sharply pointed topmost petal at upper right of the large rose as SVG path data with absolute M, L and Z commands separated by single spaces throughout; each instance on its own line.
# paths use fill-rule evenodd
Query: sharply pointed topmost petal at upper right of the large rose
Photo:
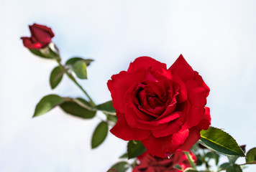
M 193 69 L 188 65 L 188 62 L 186 62 L 186 59 L 184 59 L 182 54 L 180 54 L 180 57 L 176 59 L 169 70 L 174 75 L 178 75 L 183 81 L 193 80 Z

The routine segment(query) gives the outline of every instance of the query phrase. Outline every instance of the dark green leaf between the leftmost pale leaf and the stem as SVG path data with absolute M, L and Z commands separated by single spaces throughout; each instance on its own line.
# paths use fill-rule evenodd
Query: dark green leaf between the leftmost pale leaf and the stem
M 93 118 L 95 116 L 96 111 L 88 110 L 85 107 L 83 107 L 81 104 L 78 104 L 78 102 L 76 101 L 78 100 L 76 99 L 65 100 L 65 102 L 63 102 L 60 105 L 60 108 L 62 108 L 65 111 L 65 113 L 68 113 L 76 117 L 84 118 L 84 119 Z

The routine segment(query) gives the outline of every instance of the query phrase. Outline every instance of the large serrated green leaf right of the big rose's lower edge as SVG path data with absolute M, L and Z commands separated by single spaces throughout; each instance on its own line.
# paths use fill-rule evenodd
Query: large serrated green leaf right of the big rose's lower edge
M 244 152 L 231 135 L 219 128 L 201 130 L 199 143 L 226 156 L 244 156 Z

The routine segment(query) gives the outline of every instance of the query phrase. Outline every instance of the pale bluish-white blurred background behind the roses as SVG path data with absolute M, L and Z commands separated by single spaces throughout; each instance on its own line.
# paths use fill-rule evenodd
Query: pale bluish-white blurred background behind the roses
M 47 94 L 83 96 L 68 77 L 50 89 L 57 63 L 35 57 L 19 39 L 30 36 L 28 24 L 35 22 L 52 28 L 63 62 L 95 59 L 88 80 L 79 82 L 96 103 L 111 100 L 107 80 L 136 57 L 170 67 L 183 54 L 211 88 L 212 126 L 247 151 L 255 147 L 255 9 L 253 0 L 0 0 L 0 171 L 102 172 L 126 151 L 127 143 L 111 133 L 91 150 L 97 118 L 81 120 L 55 108 L 32 119 Z

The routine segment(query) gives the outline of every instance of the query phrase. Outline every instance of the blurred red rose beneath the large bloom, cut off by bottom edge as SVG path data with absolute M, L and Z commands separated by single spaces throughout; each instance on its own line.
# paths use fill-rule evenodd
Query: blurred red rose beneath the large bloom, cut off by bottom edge
M 196 163 L 196 156 L 193 153 L 190 153 L 190 155 L 194 163 Z M 184 170 L 191 167 L 188 158 L 182 151 L 176 151 L 170 159 L 157 158 L 151 156 L 146 151 L 141 156 L 138 156 L 137 159 L 140 161 L 140 164 L 135 166 L 132 172 L 180 172 L 180 170 L 173 168 L 175 164 L 180 165 Z

